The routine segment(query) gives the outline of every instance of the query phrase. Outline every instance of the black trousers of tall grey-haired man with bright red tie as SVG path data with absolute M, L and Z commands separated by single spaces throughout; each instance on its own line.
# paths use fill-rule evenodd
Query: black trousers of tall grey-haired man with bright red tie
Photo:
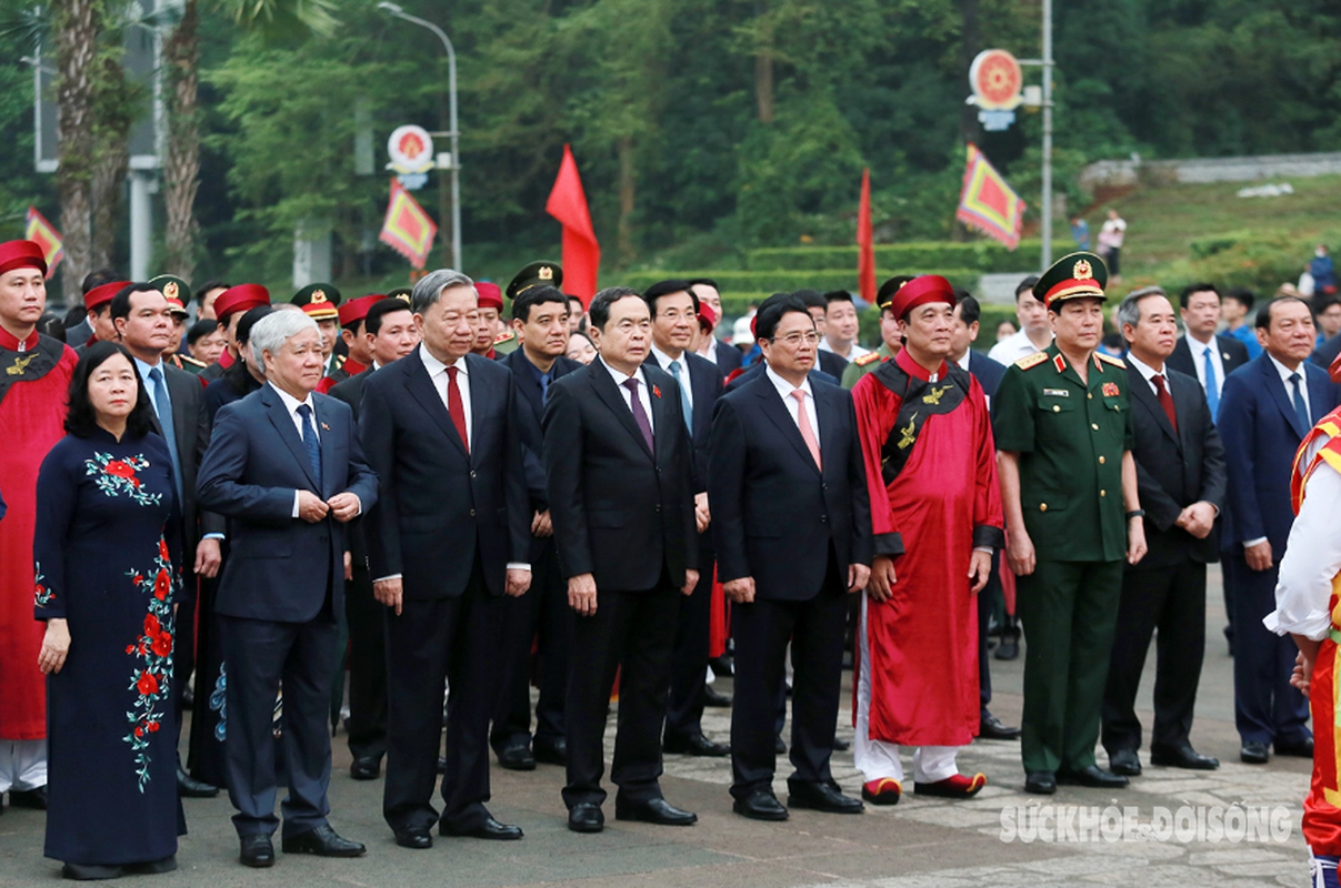
M 386 788 L 382 816 L 394 830 L 429 829 L 447 705 L 443 825 L 468 832 L 489 816 L 488 730 L 495 699 L 499 601 L 488 593 L 479 559 L 465 592 L 451 599 L 405 599 L 386 615 Z

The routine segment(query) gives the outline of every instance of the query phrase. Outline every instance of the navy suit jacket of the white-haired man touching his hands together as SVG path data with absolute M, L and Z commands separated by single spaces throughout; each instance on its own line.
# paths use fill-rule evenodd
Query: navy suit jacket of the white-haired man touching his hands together
M 229 520 L 229 552 L 215 612 L 276 623 L 306 623 L 326 603 L 345 607 L 345 526 L 327 516 L 294 516 L 294 492 L 322 500 L 350 492 L 375 508 L 377 475 L 363 459 L 354 417 L 334 398 L 312 395 L 322 477 L 307 458 L 284 402 L 271 386 L 220 409 L 200 466 L 200 506 Z

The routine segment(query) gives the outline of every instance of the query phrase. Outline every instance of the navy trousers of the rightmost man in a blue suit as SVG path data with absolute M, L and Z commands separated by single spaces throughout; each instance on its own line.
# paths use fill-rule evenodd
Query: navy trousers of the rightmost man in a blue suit
M 1277 635 L 1262 617 L 1275 609 L 1279 556 L 1267 571 L 1252 571 L 1243 546 L 1222 561 L 1224 585 L 1234 604 L 1234 722 L 1244 743 L 1302 743 L 1309 700 L 1290 687 L 1298 648 L 1289 635 Z

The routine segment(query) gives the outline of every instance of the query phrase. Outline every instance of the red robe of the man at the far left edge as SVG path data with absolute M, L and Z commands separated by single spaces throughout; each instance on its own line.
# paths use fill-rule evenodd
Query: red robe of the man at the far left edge
M 38 668 L 46 624 L 32 619 L 32 532 L 38 470 L 64 437 L 66 396 L 78 358 L 72 348 L 34 332 L 23 343 L 0 328 L 0 492 L 9 509 L 0 521 L 0 738 L 47 735 L 47 678 Z

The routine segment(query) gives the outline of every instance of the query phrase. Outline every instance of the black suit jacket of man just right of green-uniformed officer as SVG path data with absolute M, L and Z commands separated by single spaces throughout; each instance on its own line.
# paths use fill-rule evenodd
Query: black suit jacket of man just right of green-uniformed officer
M 1141 371 L 1126 366 L 1132 435 L 1136 439 L 1132 457 L 1136 459 L 1137 490 L 1145 510 L 1145 542 L 1149 546 L 1136 565 L 1139 569 L 1173 567 L 1185 554 L 1204 564 L 1218 560 L 1220 552 L 1219 521 L 1204 540 L 1173 525 L 1183 509 L 1193 502 L 1206 501 L 1219 510 L 1224 509 L 1224 446 L 1196 376 L 1169 368 L 1165 371 L 1177 431 L 1173 431 L 1168 414 Z

